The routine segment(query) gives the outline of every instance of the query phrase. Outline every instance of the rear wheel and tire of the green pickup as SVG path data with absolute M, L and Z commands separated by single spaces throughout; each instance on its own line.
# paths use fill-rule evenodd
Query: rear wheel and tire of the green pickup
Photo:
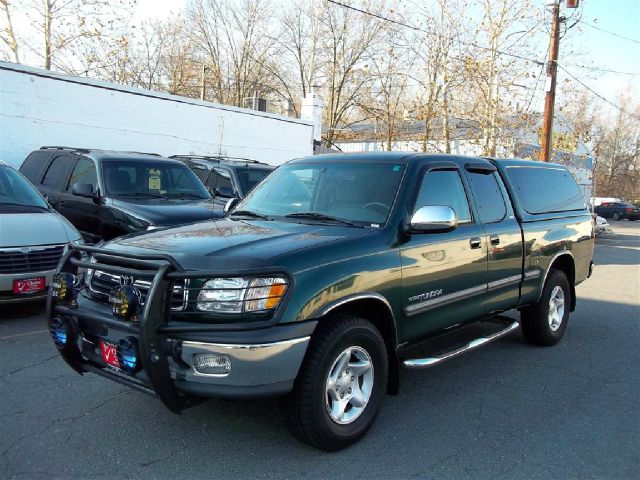
M 571 309 L 571 287 L 561 270 L 551 270 L 537 303 L 520 312 L 522 334 L 534 345 L 550 346 L 567 329 Z

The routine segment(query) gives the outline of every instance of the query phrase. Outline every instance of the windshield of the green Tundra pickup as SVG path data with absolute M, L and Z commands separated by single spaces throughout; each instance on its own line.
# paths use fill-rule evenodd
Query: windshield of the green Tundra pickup
M 234 211 L 297 222 L 377 227 L 389 216 L 403 173 L 404 165 L 389 163 L 283 165 Z

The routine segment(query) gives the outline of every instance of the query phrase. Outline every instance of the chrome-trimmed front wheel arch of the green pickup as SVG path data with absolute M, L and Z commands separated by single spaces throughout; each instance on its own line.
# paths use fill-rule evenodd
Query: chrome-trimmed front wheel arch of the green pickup
M 396 395 L 400 388 L 400 359 L 398 357 L 398 330 L 395 315 L 389 301 L 376 292 L 347 295 L 318 310 L 315 318 L 326 321 L 331 314 L 342 313 L 363 318 L 375 326 L 387 347 L 389 380 L 387 393 Z

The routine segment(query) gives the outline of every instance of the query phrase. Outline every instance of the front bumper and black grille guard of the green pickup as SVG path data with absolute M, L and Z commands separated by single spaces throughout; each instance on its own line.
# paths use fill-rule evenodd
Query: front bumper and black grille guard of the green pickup
M 80 252 L 93 253 L 100 258 L 96 250 L 94 247 L 75 247 L 63 260 L 62 267 L 99 268 L 120 275 L 140 273 L 140 270 L 133 272 L 126 266 L 90 264 L 80 259 Z M 114 256 L 103 254 L 113 261 Z M 65 361 L 78 373 L 93 372 L 157 396 L 174 412 L 202 397 L 258 398 L 283 395 L 292 389 L 316 322 L 276 323 L 265 328 L 236 331 L 221 331 L 206 323 L 194 328 L 191 323 L 181 331 L 179 322 L 170 321 L 171 309 L 166 301 L 167 292 L 172 288 L 169 274 L 176 266 L 164 257 L 140 259 L 127 255 L 118 260 L 131 267 L 139 266 L 140 262 L 149 266 L 149 262 L 159 261 L 154 264 L 157 268 L 144 273 L 153 280 L 139 322 L 113 317 L 108 305 L 83 293 L 78 295 L 74 308 L 57 303 L 51 297 L 48 299 L 50 328 L 53 328 L 55 318 L 71 325 L 73 338 L 59 349 Z M 176 278 L 175 275 L 172 278 Z M 125 337 L 136 340 L 142 366 L 133 374 L 107 365 L 101 356 L 101 341 L 117 345 Z M 196 369 L 195 357 L 212 353 L 224 355 L 229 360 L 228 372 L 206 374 Z

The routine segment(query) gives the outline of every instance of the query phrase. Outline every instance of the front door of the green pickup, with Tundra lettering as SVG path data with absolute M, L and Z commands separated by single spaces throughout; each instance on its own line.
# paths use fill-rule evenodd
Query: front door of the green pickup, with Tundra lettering
M 462 172 L 453 162 L 421 172 L 409 215 L 445 205 L 458 226 L 443 233 L 414 233 L 400 246 L 404 320 L 402 338 L 417 340 L 482 315 L 487 289 L 487 248 Z

